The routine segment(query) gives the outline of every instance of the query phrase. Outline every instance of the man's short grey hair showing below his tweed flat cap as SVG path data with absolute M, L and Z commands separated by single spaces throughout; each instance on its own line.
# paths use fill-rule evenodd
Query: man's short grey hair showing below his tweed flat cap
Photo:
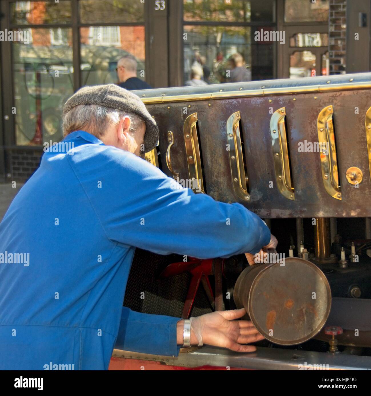
M 128 114 L 98 105 L 78 105 L 63 116 L 63 136 L 83 130 L 100 138 L 111 125 L 117 125 L 125 116 L 131 120 L 130 131 L 132 133 L 144 124 L 142 117 L 138 114 Z

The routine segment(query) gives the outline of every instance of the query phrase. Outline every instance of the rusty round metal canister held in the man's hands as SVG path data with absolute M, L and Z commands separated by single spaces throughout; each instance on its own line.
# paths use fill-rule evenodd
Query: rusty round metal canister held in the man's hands
M 233 297 L 261 335 L 278 345 L 311 339 L 325 325 L 331 308 L 327 278 L 316 265 L 298 257 L 245 268 Z

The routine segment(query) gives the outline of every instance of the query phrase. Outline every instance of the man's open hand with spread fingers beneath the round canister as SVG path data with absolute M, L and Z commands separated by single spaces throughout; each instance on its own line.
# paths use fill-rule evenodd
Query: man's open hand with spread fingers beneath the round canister
M 263 340 L 264 337 L 249 320 L 234 320 L 244 314 L 246 314 L 245 308 L 241 308 L 216 311 L 191 318 L 191 345 L 208 344 L 236 352 L 255 352 L 255 346 L 241 344 L 254 343 Z M 180 322 L 183 323 L 183 320 Z

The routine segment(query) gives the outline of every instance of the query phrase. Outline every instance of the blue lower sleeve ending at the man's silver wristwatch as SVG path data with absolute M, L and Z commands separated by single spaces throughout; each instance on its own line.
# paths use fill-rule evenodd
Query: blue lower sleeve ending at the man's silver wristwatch
M 177 356 L 177 322 L 181 318 L 150 315 L 123 307 L 115 348 L 151 355 Z M 128 331 L 127 331 L 128 330 Z

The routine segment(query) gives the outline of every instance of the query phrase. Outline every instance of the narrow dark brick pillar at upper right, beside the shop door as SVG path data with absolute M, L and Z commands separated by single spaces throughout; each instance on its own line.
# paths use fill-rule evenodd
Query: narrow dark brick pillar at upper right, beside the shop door
M 347 0 L 330 0 L 330 74 L 344 74 L 346 72 L 346 1 Z

